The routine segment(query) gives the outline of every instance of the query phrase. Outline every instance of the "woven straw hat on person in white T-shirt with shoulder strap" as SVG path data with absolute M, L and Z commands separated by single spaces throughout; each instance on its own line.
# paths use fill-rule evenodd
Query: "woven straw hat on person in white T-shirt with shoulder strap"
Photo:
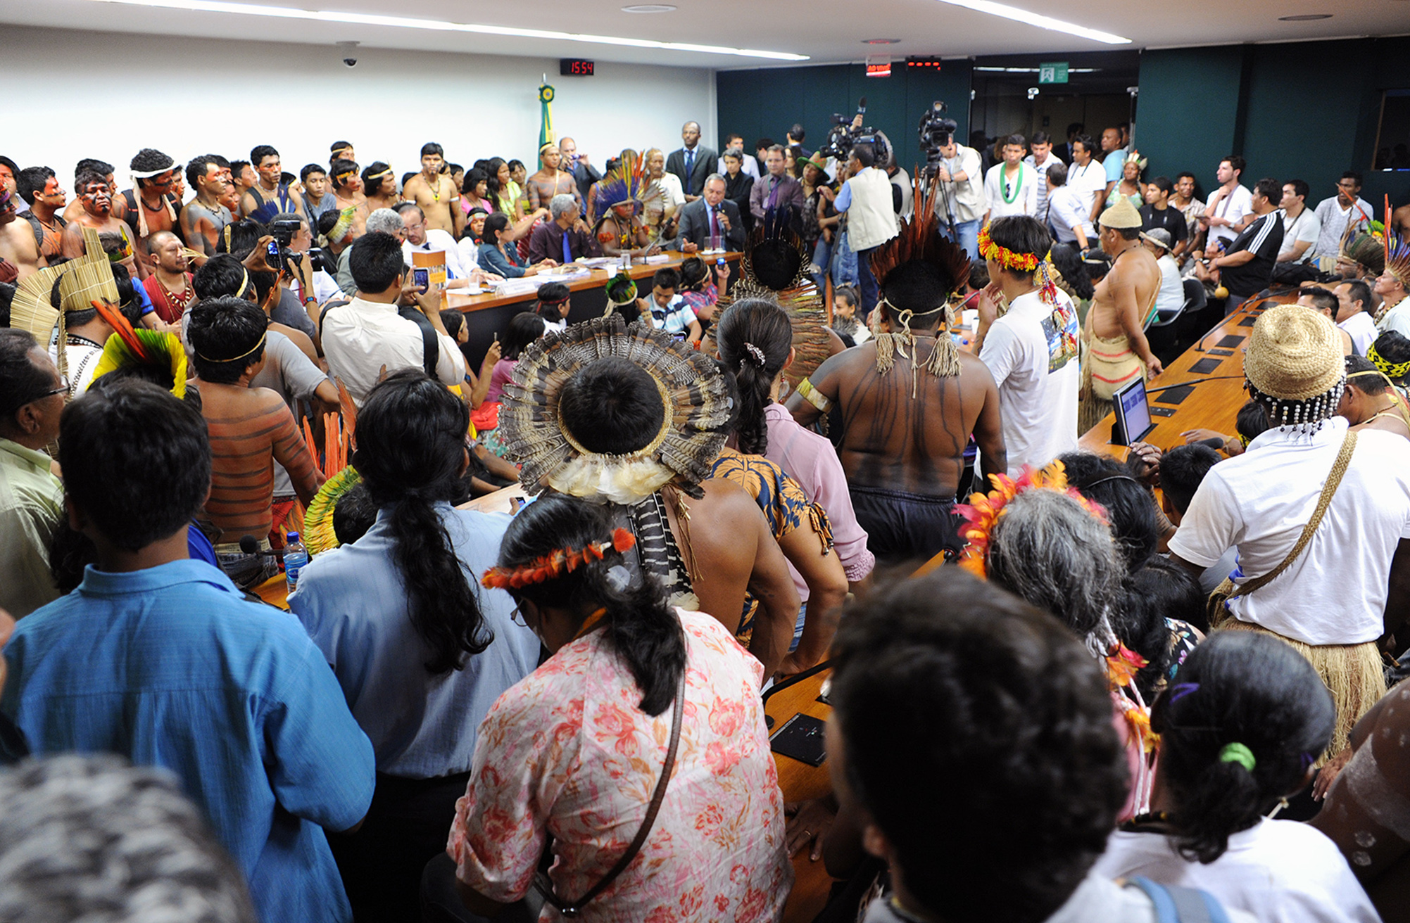
M 1253 324 L 1244 376 L 1269 397 L 1308 400 L 1335 388 L 1344 373 L 1341 338 L 1324 314 L 1277 304 Z

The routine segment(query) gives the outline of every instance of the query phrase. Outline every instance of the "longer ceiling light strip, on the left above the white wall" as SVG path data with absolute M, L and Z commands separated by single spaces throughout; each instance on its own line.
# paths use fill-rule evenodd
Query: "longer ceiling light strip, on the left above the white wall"
M 313 20 L 316 23 L 351 23 L 354 25 L 388 25 L 393 28 L 423 28 L 433 32 L 475 32 L 479 35 L 509 35 L 513 38 L 550 38 L 563 42 L 623 45 L 627 48 L 698 51 L 705 55 L 739 55 L 740 58 L 768 58 L 771 61 L 808 61 L 808 55 L 795 55 L 787 51 L 726 48 L 722 45 L 695 45 L 692 42 L 658 42 L 650 38 L 623 38 L 618 35 L 587 35 L 582 32 L 556 32 L 551 30 L 516 28 L 512 25 L 448 23 L 446 20 L 415 20 L 405 16 L 344 13 L 341 10 L 296 10 L 293 7 L 271 7 L 258 3 L 226 3 L 223 0 L 93 0 L 93 1 L 123 3 L 127 6 L 137 6 L 137 7 L 161 7 L 165 10 L 195 10 L 197 13 L 234 13 L 238 16 L 268 16 L 281 20 Z

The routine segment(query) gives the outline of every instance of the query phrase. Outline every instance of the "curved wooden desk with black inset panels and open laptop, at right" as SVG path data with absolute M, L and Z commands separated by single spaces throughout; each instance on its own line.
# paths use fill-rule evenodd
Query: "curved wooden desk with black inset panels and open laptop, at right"
M 1180 392 L 1159 390 L 1151 393 L 1151 421 L 1155 428 L 1142 440 L 1166 450 L 1183 445 L 1189 430 L 1214 430 L 1231 435 L 1234 420 L 1244 406 L 1244 351 L 1248 347 L 1253 321 L 1263 309 L 1293 300 L 1296 296 L 1249 300 L 1237 311 L 1201 337 L 1193 347 L 1180 354 L 1165 371 L 1146 383 L 1148 392 L 1184 382 L 1198 380 L 1182 399 Z M 1198 369 L 1194 366 L 1198 364 Z M 1214 379 L 1214 380 L 1204 380 Z M 1172 402 L 1179 403 L 1172 403 Z M 1160 416 L 1166 414 L 1169 416 Z M 1111 444 L 1114 414 L 1107 414 L 1101 423 L 1087 430 L 1077 441 L 1079 448 L 1089 452 L 1104 452 L 1117 458 L 1127 457 L 1125 445 Z

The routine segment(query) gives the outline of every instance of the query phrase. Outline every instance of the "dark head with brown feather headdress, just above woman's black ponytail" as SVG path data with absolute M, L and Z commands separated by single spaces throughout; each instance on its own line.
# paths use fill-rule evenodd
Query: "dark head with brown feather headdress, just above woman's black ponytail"
M 778 303 L 792 324 L 792 345 L 797 349 L 792 365 L 784 369 L 790 388 L 818 371 L 832 354 L 828 335 L 828 311 L 822 293 L 808 275 L 808 249 L 794 233 L 791 211 L 770 209 L 764 220 L 754 225 L 739 261 L 739 280 L 728 296 L 721 296 L 719 307 L 743 299 L 764 299 Z

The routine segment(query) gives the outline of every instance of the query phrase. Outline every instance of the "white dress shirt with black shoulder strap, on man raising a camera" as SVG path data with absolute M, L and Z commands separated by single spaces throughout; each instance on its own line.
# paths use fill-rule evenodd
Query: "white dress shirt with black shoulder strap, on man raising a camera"
M 440 341 L 436 380 L 460 385 L 465 380 L 465 357 L 450 337 L 436 334 L 436 338 Z M 341 379 L 360 407 L 381 378 L 382 366 L 388 373 L 419 369 L 426 355 L 420 327 L 399 316 L 395 304 L 361 297 L 334 307 L 323 318 L 323 352 L 329 376 Z

